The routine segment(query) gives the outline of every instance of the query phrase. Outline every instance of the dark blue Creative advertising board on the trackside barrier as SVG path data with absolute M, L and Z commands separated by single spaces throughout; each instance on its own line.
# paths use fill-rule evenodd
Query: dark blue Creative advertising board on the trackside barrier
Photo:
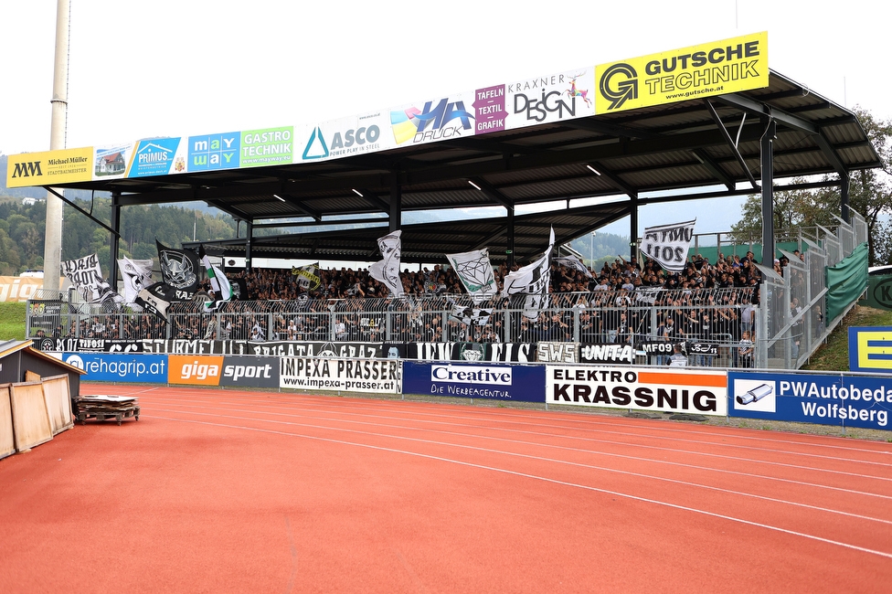
M 404 361 L 403 394 L 545 402 L 545 367 Z

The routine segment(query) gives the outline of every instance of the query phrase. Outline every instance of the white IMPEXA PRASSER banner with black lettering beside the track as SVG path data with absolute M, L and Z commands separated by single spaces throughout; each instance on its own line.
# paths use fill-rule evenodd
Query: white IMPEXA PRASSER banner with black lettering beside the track
M 280 387 L 399 394 L 402 364 L 396 359 L 280 359 Z

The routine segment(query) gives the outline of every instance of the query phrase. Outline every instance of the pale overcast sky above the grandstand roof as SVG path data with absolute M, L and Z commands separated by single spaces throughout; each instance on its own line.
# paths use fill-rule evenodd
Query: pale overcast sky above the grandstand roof
M 759 31 L 771 69 L 892 119 L 889 16 L 869 0 L 71 0 L 67 146 L 324 122 Z M 55 27 L 55 0 L 0 4 L 0 153 L 49 148 Z

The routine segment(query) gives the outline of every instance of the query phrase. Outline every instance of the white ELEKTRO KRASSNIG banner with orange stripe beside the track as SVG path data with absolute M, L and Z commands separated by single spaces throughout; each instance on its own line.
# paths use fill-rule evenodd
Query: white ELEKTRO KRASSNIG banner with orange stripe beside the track
M 547 401 L 580 407 L 721 416 L 727 413 L 726 382 L 724 371 L 546 366 Z

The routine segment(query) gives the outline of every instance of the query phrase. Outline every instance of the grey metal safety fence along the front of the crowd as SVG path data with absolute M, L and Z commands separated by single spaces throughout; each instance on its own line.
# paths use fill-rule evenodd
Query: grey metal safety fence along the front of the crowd
M 28 306 L 28 328 L 31 336 L 52 345 L 48 350 L 91 350 L 92 345 L 133 350 L 146 340 L 573 343 L 620 345 L 642 356 L 645 365 L 662 365 L 673 354 L 672 345 L 682 345 L 692 365 L 753 366 L 752 356 L 738 360 L 738 351 L 742 333 L 752 332 L 757 296 L 752 287 L 557 293 L 535 319 L 518 302 L 474 303 L 468 295 L 231 302 L 212 313 L 200 303 L 184 302 L 172 305 L 167 324 L 128 308 L 101 313 L 82 304 L 34 301 Z M 658 354 L 653 360 L 652 353 Z

